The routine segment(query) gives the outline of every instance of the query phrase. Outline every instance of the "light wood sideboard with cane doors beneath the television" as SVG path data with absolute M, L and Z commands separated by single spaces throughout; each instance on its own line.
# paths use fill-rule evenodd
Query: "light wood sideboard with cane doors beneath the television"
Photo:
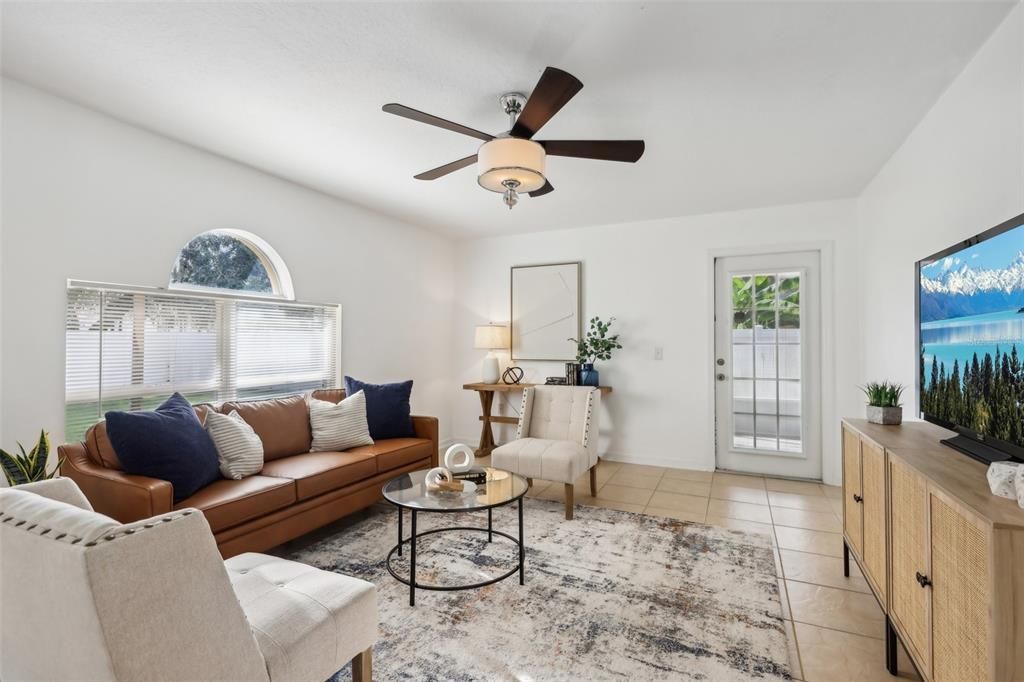
M 843 420 L 845 571 L 853 557 L 927 682 L 1024 680 L 1024 509 L 925 422 Z

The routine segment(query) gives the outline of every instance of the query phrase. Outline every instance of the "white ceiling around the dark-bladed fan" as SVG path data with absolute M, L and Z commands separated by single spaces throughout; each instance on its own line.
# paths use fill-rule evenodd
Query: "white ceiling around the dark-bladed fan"
M 853 197 L 1013 2 L 3 3 L 4 72 L 450 235 Z M 643 138 L 636 164 L 549 159 L 509 212 L 472 168 L 544 67 L 585 87 L 539 138 Z

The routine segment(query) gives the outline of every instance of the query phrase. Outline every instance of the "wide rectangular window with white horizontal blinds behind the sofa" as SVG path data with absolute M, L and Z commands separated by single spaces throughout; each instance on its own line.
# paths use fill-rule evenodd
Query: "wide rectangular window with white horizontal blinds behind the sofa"
M 289 395 L 340 385 L 341 306 L 72 282 L 65 439 L 111 410 Z

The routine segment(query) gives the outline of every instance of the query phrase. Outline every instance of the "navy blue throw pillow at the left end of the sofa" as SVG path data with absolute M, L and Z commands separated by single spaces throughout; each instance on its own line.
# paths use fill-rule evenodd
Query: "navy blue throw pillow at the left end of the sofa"
M 153 412 L 106 413 L 106 435 L 125 473 L 170 481 L 174 502 L 220 478 L 217 447 L 180 393 Z

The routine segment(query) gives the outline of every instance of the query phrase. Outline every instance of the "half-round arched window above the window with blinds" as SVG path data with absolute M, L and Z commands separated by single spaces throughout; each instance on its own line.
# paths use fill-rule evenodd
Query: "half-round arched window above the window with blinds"
M 241 229 L 212 229 L 189 240 L 178 252 L 169 286 L 295 298 L 292 278 L 278 252 Z

